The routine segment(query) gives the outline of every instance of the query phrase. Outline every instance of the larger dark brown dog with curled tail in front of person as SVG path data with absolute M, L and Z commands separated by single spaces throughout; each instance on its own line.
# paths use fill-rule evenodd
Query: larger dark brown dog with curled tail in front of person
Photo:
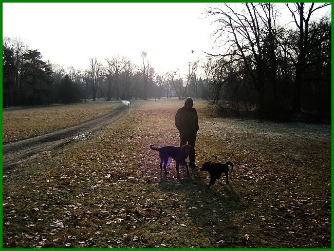
M 162 148 L 155 148 L 153 147 L 153 144 L 150 144 L 150 149 L 154 151 L 159 152 L 159 157 L 160 157 L 160 169 L 162 171 L 162 162 L 163 162 L 163 169 L 166 171 L 166 165 L 168 163 L 169 157 L 173 158 L 176 161 L 176 172 L 177 172 L 177 177 L 180 177 L 179 173 L 179 164 L 184 163 L 185 167 L 187 168 L 187 173 L 189 174 L 188 170 L 188 164 L 185 162 L 185 159 L 189 156 L 191 151 L 194 151 L 193 147 L 189 144 L 184 144 L 182 147 L 172 147 L 171 145 L 168 145 L 166 147 Z

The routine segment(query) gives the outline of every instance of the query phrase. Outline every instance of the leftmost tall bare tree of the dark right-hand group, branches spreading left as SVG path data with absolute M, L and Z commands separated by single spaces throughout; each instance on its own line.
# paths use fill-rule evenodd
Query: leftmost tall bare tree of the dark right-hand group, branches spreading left
M 265 72 L 266 61 L 264 57 L 264 24 L 268 24 L 267 13 L 271 7 L 255 5 L 253 3 L 239 4 L 236 11 L 235 6 L 222 5 L 222 8 L 211 8 L 206 13 L 209 16 L 218 16 L 214 22 L 219 24 L 215 35 L 221 39 L 226 48 L 224 53 L 212 55 L 228 58 L 226 62 L 235 65 L 243 64 L 247 70 L 254 87 L 258 93 L 259 108 L 265 107 Z M 258 7 L 266 13 L 265 17 L 259 13 Z M 240 11 L 243 9 L 244 11 Z M 271 29 L 271 28 L 270 28 Z

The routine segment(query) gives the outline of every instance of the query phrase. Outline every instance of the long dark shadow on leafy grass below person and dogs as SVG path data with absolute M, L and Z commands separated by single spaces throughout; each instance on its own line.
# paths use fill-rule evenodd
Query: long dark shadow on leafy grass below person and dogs
M 158 187 L 166 197 L 173 196 L 178 199 L 179 204 L 175 209 L 177 214 L 180 214 L 179 217 L 190 217 L 196 227 L 195 231 L 206 235 L 207 243 L 211 243 L 190 244 L 196 248 L 236 247 L 231 244 L 237 243 L 238 238 L 239 219 L 236 215 L 246 211 L 248 207 L 238 195 L 238 186 L 232 180 L 226 184 L 226 179 L 222 178 L 208 187 L 209 175 L 198 168 L 190 169 L 189 175 L 180 169 L 180 174 L 179 180 L 174 172 L 162 174 Z M 221 241 L 223 239 L 224 241 Z

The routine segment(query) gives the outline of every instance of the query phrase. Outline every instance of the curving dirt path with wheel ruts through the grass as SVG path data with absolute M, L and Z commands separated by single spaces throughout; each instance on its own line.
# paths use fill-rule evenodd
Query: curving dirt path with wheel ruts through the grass
M 121 106 L 107 115 L 90 120 L 78 126 L 60 131 L 44 134 L 25 140 L 11 142 L 3 145 L 3 170 L 7 170 L 18 162 L 25 161 L 45 151 L 59 147 L 59 145 L 77 140 L 89 135 L 91 132 L 100 130 L 106 124 L 121 118 L 128 109 Z

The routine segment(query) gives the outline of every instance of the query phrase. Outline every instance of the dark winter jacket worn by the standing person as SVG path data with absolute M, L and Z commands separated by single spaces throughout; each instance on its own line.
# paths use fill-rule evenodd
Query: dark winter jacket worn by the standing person
M 196 134 L 199 129 L 196 109 L 188 109 L 185 106 L 178 109 L 175 114 L 175 126 L 181 135 Z

